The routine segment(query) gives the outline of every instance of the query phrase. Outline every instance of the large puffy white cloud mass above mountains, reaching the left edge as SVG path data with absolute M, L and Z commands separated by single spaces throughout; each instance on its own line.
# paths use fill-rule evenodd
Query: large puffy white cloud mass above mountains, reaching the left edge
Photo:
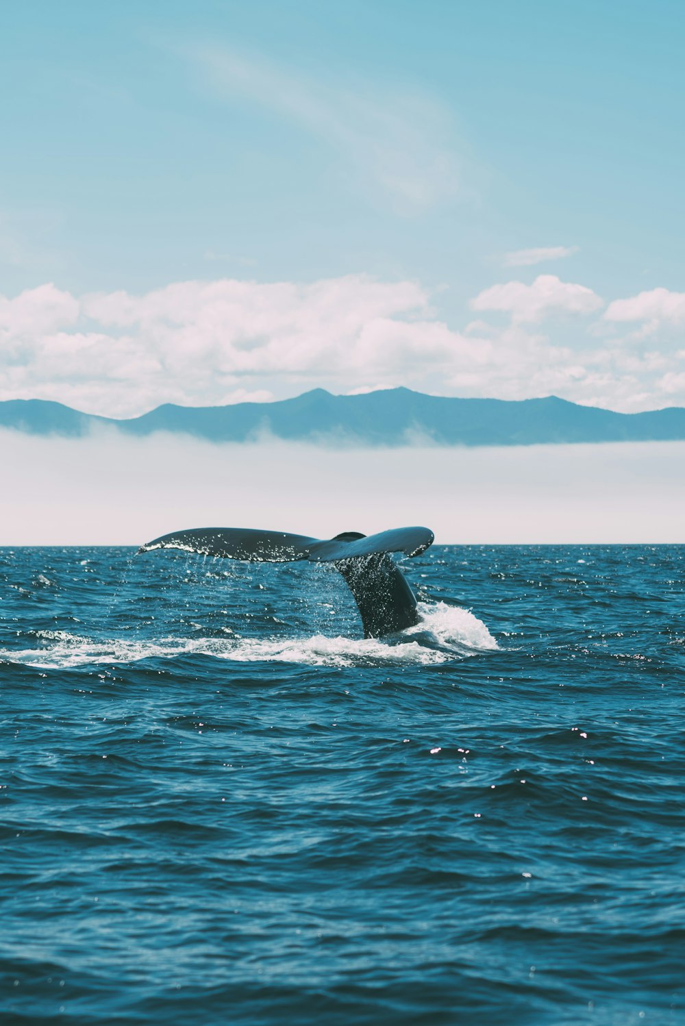
M 413 319 L 409 320 L 408 318 Z M 160 402 L 270 396 L 269 380 L 301 391 L 360 387 L 427 361 L 478 360 L 430 314 L 411 281 L 363 275 L 296 284 L 188 281 L 144 295 L 75 298 L 43 285 L 0 298 L 0 397 L 58 399 L 133 416 Z

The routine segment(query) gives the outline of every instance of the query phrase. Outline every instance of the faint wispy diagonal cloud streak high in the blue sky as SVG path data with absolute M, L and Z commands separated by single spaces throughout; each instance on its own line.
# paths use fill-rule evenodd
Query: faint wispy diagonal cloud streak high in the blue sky
M 455 193 L 449 116 L 427 95 L 369 82 L 341 88 L 225 46 L 183 52 L 224 100 L 261 107 L 314 135 L 335 152 L 348 175 L 379 187 L 407 212 Z

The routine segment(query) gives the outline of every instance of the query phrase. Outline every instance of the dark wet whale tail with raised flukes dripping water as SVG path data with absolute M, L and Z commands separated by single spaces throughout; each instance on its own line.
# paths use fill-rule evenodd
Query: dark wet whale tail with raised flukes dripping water
M 418 623 L 416 596 L 392 553 L 418 556 L 433 544 L 428 527 L 395 527 L 376 535 L 348 530 L 323 541 L 252 527 L 192 527 L 146 542 L 138 553 L 179 549 L 246 562 L 332 563 L 352 592 L 365 638 L 384 637 Z

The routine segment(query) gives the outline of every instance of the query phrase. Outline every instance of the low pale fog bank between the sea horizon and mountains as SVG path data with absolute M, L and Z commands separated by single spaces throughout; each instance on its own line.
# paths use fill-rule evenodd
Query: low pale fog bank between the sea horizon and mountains
M 138 545 L 194 526 L 439 543 L 685 542 L 685 442 L 400 449 L 0 431 L 0 545 Z

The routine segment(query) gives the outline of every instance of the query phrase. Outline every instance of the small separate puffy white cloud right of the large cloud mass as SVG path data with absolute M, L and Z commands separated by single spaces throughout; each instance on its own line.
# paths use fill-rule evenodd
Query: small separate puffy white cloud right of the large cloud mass
M 551 313 L 590 314 L 602 306 L 592 288 L 561 281 L 554 274 L 540 274 L 532 285 L 508 281 L 491 285 L 472 300 L 474 310 L 496 310 L 512 315 L 512 320 L 539 321 Z

